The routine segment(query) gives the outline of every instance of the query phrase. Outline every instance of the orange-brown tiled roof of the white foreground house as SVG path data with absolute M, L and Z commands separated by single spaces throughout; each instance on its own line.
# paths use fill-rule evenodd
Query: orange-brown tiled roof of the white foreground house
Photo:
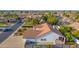
M 50 31 L 51 29 L 47 23 L 39 24 L 26 30 L 24 33 L 24 38 L 36 38 Z

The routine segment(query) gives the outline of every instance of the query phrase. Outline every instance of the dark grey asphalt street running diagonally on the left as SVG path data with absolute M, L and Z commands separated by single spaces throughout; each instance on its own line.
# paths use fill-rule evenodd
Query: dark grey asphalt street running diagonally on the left
M 12 31 L 6 31 L 0 34 L 0 44 L 6 40 L 14 31 L 17 30 L 23 23 L 16 23 L 11 27 Z

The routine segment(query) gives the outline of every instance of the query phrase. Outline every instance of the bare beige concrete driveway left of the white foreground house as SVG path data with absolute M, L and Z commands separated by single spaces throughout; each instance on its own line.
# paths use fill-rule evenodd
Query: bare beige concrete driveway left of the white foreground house
M 11 36 L 0 44 L 0 48 L 24 48 L 22 36 Z

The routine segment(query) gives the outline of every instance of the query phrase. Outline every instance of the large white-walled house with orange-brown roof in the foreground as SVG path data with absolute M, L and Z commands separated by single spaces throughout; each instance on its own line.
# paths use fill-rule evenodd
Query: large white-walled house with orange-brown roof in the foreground
M 37 43 L 38 45 L 55 45 L 64 44 L 65 38 L 53 32 L 47 23 L 43 23 L 26 30 L 24 33 L 24 43 L 27 44 L 28 42 Z

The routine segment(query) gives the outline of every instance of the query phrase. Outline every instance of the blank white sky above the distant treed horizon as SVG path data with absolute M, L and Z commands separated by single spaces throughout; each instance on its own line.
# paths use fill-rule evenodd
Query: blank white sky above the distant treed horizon
M 78 0 L 0 0 L 0 10 L 76 10 Z

